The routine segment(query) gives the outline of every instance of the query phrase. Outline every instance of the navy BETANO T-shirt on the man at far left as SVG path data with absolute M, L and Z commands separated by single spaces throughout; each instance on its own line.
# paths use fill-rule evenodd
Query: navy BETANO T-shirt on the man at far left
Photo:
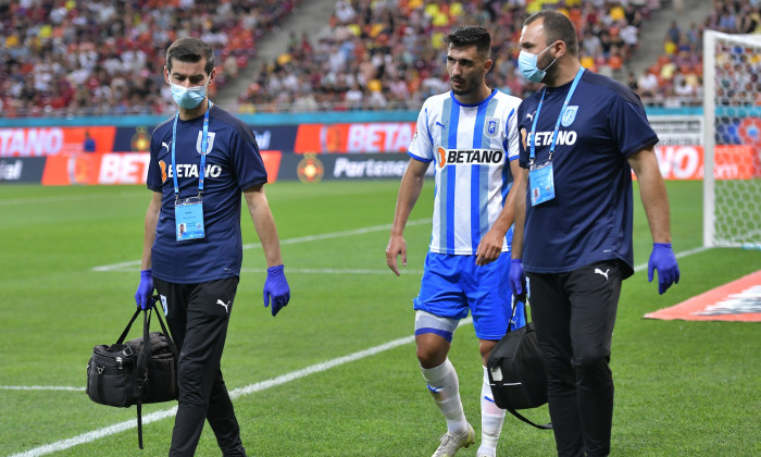
M 148 188 L 162 193 L 161 214 L 152 248 L 153 276 L 195 284 L 240 275 L 241 192 L 266 183 L 266 170 L 251 128 L 215 104 L 209 111 L 209 137 L 203 182 L 205 236 L 177 242 L 172 163 L 174 116 L 151 136 Z M 203 115 L 177 121 L 175 146 L 179 197 L 198 195 Z

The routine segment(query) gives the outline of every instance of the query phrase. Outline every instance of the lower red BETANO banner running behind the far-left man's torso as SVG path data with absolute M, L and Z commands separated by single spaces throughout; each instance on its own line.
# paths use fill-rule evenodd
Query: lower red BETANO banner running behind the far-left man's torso
M 269 182 L 277 181 L 280 151 L 262 151 Z M 72 184 L 146 184 L 148 152 L 61 153 L 47 158 L 42 172 L 46 186 Z

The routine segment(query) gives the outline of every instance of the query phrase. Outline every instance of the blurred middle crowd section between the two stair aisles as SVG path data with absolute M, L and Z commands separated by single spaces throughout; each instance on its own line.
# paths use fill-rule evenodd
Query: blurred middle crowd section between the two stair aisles
M 417 109 L 449 89 L 446 34 L 479 24 L 492 33 L 490 87 L 523 97 L 537 89 L 516 69 L 523 21 L 542 8 L 563 10 L 583 37 L 582 63 L 612 75 L 638 46 L 659 0 L 338 0 L 328 33 L 290 37 L 288 51 L 264 62 L 239 102 L 242 111 Z

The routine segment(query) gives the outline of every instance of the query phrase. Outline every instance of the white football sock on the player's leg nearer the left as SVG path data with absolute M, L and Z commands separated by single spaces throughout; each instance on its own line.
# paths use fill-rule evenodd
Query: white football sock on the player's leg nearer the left
M 428 384 L 431 396 L 447 419 L 447 430 L 454 433 L 467 429 L 465 412 L 462 410 L 460 400 L 460 383 L 449 359 L 438 367 L 421 367 L 421 370 Z

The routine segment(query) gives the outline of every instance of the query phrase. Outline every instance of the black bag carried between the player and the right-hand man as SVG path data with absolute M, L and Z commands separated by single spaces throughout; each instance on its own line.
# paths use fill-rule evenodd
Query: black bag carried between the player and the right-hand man
M 525 304 L 513 297 L 510 320 L 515 316 L 519 305 L 523 306 L 526 314 Z M 551 423 L 538 425 L 516 411 L 538 408 L 547 403 L 547 370 L 533 322 L 526 322 L 525 326 L 517 330 L 508 326 L 508 332 L 491 349 L 486 368 L 497 406 L 537 429 L 552 429 Z

